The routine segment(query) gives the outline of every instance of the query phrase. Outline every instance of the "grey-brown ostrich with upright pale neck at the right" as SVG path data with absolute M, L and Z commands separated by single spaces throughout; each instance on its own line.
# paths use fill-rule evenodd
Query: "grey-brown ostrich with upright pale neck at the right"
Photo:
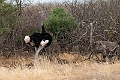
M 111 41 L 96 41 L 93 42 L 93 23 L 90 23 L 90 45 L 89 50 L 92 52 L 88 59 L 90 59 L 91 55 L 96 55 L 96 53 L 101 53 L 104 60 L 107 62 L 109 58 L 114 56 L 120 57 L 119 54 L 119 45 L 120 42 L 111 42 Z M 97 57 L 98 58 L 98 57 Z M 98 58 L 99 59 L 99 58 Z

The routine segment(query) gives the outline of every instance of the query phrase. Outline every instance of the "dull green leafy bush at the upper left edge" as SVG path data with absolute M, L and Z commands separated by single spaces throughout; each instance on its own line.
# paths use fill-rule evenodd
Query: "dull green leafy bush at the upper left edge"
M 15 15 L 17 7 L 11 3 L 0 1 L 0 34 L 10 32 L 16 25 L 18 17 Z

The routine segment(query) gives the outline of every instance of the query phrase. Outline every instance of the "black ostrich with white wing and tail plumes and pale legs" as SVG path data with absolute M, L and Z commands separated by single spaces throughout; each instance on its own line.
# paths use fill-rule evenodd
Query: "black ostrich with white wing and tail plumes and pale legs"
M 40 50 L 50 46 L 52 36 L 46 32 L 43 24 L 42 33 L 34 33 L 31 36 L 25 36 L 24 41 L 35 47 L 35 61 L 37 61 Z

